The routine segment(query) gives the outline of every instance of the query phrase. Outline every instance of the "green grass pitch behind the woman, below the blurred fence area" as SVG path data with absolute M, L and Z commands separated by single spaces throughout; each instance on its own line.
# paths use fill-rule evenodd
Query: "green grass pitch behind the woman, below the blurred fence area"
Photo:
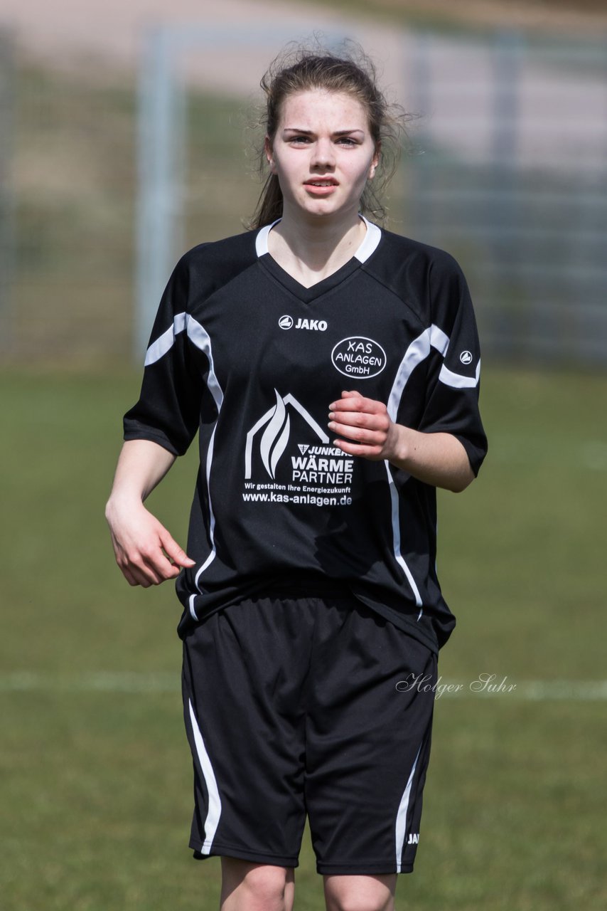
M 123 373 L 0 374 L 3 911 L 218 905 L 218 860 L 187 850 L 191 764 L 170 585 L 129 589 L 103 507 Z M 459 618 L 442 653 L 416 872 L 397 906 L 555 911 L 607 904 L 601 700 L 526 699 L 527 681 L 599 681 L 604 665 L 607 377 L 486 372 L 491 452 L 441 495 L 440 575 Z M 194 453 L 150 504 L 185 539 Z M 512 692 L 479 694 L 495 674 Z M 545 696 L 559 695 L 556 682 Z M 320 909 L 306 839 L 296 906 Z

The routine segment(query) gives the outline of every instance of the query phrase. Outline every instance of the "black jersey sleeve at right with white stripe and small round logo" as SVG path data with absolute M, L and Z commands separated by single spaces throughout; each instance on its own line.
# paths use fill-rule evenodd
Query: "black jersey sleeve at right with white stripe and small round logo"
M 487 454 L 479 412 L 481 350 L 468 284 L 452 257 L 433 265 L 430 298 L 432 356 L 419 429 L 456 436 L 477 475 Z

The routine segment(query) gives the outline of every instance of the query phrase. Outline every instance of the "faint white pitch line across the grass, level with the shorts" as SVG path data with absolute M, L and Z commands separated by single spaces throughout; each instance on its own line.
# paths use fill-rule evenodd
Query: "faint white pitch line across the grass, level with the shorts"
M 487 676 L 487 675 L 484 675 Z M 38 673 L 15 670 L 0 674 L 0 692 L 58 693 L 178 693 L 179 674 L 136 670 L 96 670 L 81 674 Z M 423 686 L 413 681 L 407 686 Z M 481 689 L 481 686 L 483 687 Z M 405 690 L 406 686 L 400 687 Z M 437 699 L 500 699 L 508 701 L 600 701 L 607 700 L 607 681 L 516 681 L 510 677 L 492 681 L 440 681 Z

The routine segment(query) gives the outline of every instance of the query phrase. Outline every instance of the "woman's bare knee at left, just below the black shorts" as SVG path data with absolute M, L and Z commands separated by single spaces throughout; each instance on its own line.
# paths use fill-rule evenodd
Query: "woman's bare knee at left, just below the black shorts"
M 283 866 L 221 858 L 222 911 L 288 911 L 294 872 Z

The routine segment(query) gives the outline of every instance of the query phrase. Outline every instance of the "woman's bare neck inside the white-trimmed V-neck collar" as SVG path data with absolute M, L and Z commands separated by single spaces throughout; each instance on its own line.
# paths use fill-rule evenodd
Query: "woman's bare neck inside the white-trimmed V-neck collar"
M 310 288 L 338 271 L 359 249 L 367 231 L 355 213 L 343 220 L 297 220 L 285 212 L 269 232 L 268 251 L 288 274 Z

